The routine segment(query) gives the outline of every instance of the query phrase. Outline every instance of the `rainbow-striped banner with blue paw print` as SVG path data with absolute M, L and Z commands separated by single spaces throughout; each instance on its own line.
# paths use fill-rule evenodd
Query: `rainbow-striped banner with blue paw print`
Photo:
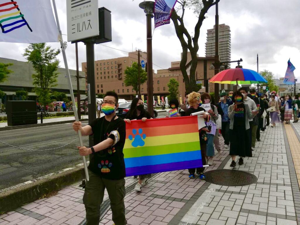
M 197 116 L 126 123 L 126 176 L 202 167 Z

